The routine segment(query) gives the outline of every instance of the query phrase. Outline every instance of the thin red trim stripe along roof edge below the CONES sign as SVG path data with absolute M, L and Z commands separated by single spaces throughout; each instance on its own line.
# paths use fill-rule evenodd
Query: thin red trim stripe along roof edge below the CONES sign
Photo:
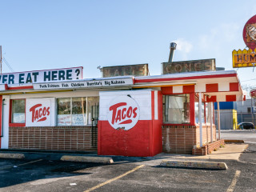
M 139 82 L 167 82 L 167 81 L 199 79 L 199 78 L 229 78 L 229 77 L 237 77 L 237 74 L 214 74 L 214 75 L 193 76 L 193 77 L 184 77 L 184 78 L 154 78 L 154 79 L 136 79 L 135 78 L 135 83 L 139 83 Z

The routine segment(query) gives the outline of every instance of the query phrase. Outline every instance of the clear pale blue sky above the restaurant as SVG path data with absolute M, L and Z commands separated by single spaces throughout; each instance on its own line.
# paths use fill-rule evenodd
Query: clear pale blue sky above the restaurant
M 0 0 L 0 45 L 15 72 L 149 63 L 161 74 L 170 42 L 174 61 L 216 58 L 232 68 L 232 50 L 246 48 L 242 29 L 256 1 Z M 9 73 L 3 64 L 3 73 Z M 256 69 L 239 69 L 242 85 L 256 86 Z

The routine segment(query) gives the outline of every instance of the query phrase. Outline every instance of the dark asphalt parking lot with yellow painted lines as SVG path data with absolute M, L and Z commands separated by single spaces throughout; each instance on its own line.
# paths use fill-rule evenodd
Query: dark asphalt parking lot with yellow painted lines
M 222 137 L 236 133 L 226 132 Z M 239 133 L 249 137 L 247 131 Z M 163 156 L 114 157 L 108 165 L 62 162 L 58 158 L 62 154 L 0 159 L 0 191 L 255 191 L 256 132 L 249 135 L 245 140 L 249 147 L 238 161 L 218 160 L 226 162 L 228 170 L 162 167 Z

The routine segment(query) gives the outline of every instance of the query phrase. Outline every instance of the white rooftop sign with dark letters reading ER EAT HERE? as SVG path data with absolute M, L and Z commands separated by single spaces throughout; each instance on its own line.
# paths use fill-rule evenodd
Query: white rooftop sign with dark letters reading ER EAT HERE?
M 0 74 L 0 84 L 31 84 L 34 82 L 59 82 L 82 79 L 82 66 L 59 70 L 34 70 Z

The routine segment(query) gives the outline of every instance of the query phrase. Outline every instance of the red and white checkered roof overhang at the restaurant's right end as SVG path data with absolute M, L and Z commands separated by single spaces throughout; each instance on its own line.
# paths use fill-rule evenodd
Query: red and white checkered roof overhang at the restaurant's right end
M 134 86 L 161 86 L 162 94 L 202 93 L 207 102 L 236 102 L 246 98 L 234 70 L 138 77 Z

